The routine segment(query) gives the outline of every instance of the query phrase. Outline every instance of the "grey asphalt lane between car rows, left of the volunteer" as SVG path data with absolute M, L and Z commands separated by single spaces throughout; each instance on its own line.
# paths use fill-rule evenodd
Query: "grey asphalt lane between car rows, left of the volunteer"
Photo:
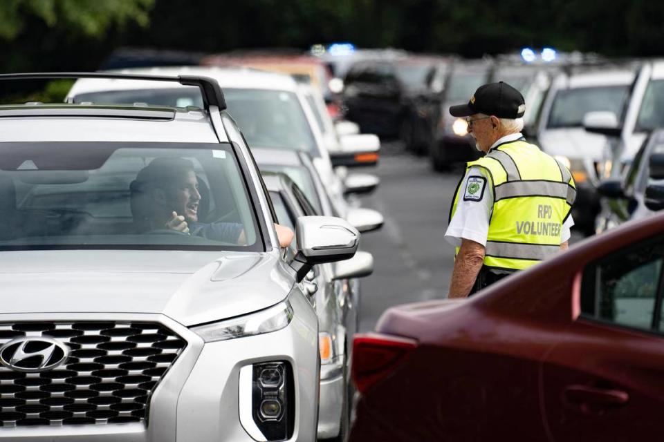
M 360 332 L 373 330 L 388 307 L 447 296 L 454 247 L 445 230 L 463 166 L 436 173 L 427 157 L 383 144 L 378 166 L 367 173 L 378 175 L 380 186 L 361 204 L 380 211 L 385 224 L 360 239 L 360 249 L 374 254 L 374 273 L 362 279 Z M 580 238 L 573 232 L 571 242 Z

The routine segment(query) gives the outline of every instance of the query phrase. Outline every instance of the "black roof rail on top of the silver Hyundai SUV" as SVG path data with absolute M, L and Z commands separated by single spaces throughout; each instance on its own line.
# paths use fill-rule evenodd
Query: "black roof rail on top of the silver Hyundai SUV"
M 164 75 L 131 75 L 116 73 L 82 73 L 82 72 L 51 72 L 51 73 L 24 73 L 24 74 L 0 74 L 0 80 L 29 80 L 29 79 L 59 79 L 59 78 L 97 78 L 97 79 L 122 79 L 138 81 L 174 81 L 183 86 L 197 86 L 203 95 L 205 111 L 210 112 L 210 106 L 217 106 L 220 111 L 226 108 L 223 91 L 219 83 L 210 77 L 178 75 L 167 77 Z

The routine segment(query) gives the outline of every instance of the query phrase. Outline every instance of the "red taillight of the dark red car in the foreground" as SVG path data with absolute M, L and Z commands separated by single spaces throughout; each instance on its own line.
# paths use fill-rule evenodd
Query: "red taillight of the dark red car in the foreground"
M 353 340 L 353 381 L 360 393 L 387 376 L 417 347 L 417 341 L 379 334 L 358 334 Z

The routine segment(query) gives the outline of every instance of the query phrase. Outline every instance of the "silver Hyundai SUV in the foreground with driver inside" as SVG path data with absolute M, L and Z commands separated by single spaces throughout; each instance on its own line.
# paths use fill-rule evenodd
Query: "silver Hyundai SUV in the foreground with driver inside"
M 358 231 L 298 218 L 284 261 L 214 80 L 0 80 L 46 77 L 175 81 L 204 108 L 0 106 L 0 439 L 315 439 L 302 280 L 351 258 Z

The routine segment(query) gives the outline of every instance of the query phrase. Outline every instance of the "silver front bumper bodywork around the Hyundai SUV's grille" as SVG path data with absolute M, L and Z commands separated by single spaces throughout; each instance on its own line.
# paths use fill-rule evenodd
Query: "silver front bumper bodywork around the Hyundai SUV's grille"
M 239 372 L 252 363 L 286 361 L 293 369 L 295 425 L 289 441 L 313 441 L 317 428 L 319 363 L 317 318 L 302 296 L 295 315 L 277 332 L 203 343 L 187 327 L 159 314 L 12 314 L 0 321 L 157 322 L 187 340 L 187 347 L 158 383 L 144 423 L 0 427 L 2 441 L 208 442 L 255 441 L 239 419 Z

